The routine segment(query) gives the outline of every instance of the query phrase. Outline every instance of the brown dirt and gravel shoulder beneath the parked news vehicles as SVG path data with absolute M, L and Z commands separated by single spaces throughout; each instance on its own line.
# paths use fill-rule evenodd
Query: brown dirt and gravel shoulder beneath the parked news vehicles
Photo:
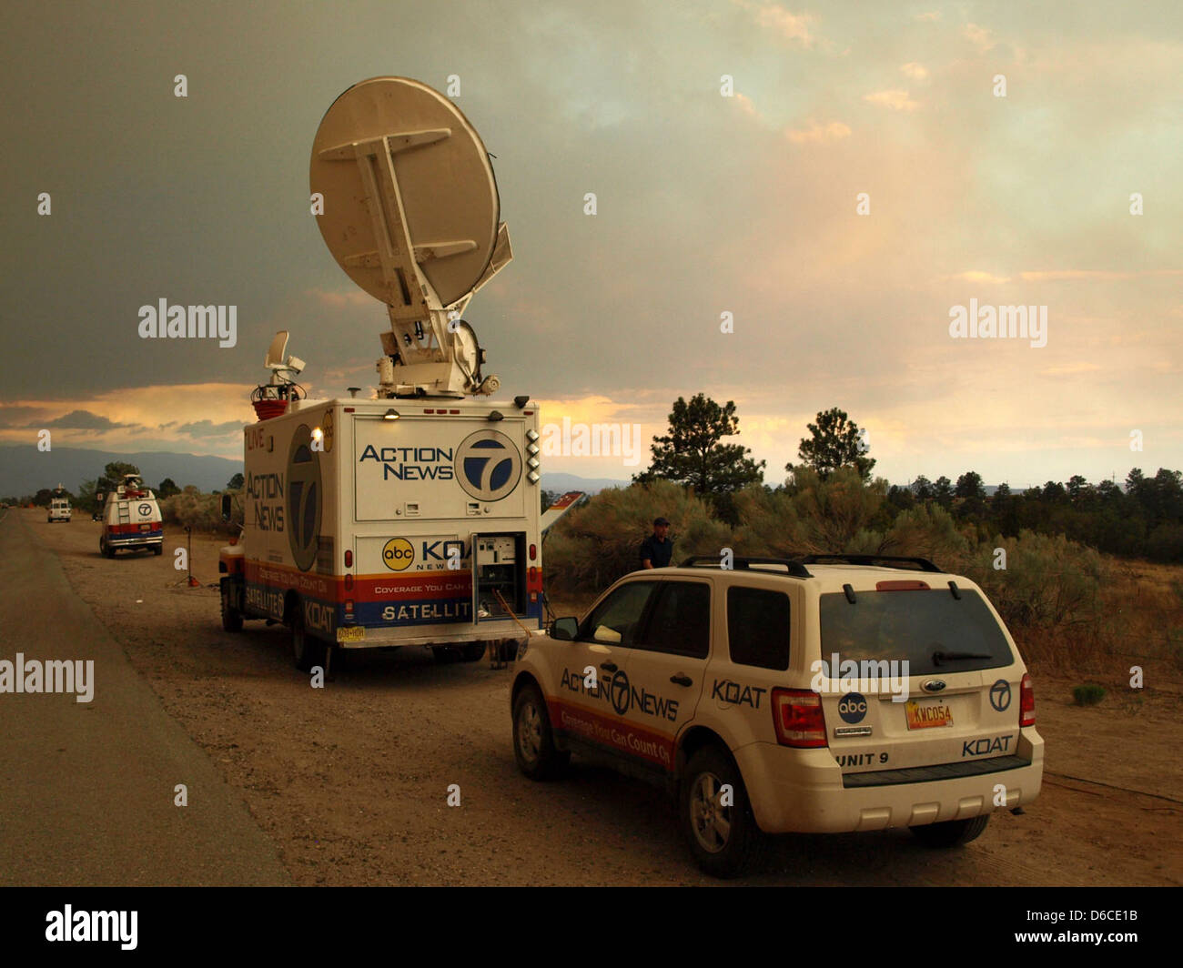
M 164 555 L 98 553 L 97 523 L 22 510 L 166 709 L 207 750 L 297 884 L 715 884 L 690 860 L 665 796 L 603 767 L 534 783 L 515 764 L 511 670 L 435 665 L 426 648 L 353 653 L 325 689 L 291 664 L 280 626 L 219 618 L 218 546 L 193 540 L 189 588 Z M 569 612 L 561 608 L 560 613 Z M 1084 679 L 1034 670 L 1043 792 L 995 813 L 963 850 L 906 831 L 769 840 L 741 884 L 1177 885 L 1183 883 L 1183 684 L 1146 666 L 1093 708 Z M 102 683 L 97 683 L 102 688 Z M 450 785 L 460 806 L 448 807 Z M 190 793 L 190 796 L 200 792 Z

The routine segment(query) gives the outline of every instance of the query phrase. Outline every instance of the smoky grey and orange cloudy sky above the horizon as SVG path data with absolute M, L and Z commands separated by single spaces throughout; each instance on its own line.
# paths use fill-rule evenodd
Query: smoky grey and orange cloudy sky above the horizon
M 313 224 L 312 138 L 358 80 L 457 75 L 515 251 L 465 317 L 545 421 L 648 440 L 705 392 L 774 483 L 833 406 L 899 483 L 1183 467 L 1174 0 L 8 0 L 0 28 L 0 443 L 31 456 L 240 456 L 280 328 L 313 395 L 373 387 L 386 314 Z M 237 346 L 140 338 L 162 298 L 235 305 Z M 953 338 L 971 299 L 1046 306 L 1046 346 Z

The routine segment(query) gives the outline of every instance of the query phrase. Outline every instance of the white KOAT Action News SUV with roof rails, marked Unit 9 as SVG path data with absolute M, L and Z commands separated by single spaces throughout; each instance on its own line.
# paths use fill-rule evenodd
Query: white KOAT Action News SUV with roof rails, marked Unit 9
M 911 827 L 965 844 L 1035 799 L 1043 741 L 1014 640 L 924 559 L 691 559 L 635 572 L 518 652 L 513 750 L 665 783 L 696 860 L 743 870 L 759 833 Z

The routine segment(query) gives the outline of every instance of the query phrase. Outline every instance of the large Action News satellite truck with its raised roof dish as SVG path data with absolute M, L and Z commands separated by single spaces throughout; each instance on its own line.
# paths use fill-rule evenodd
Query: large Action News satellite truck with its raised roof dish
M 390 329 L 373 399 L 306 399 L 276 335 L 244 431 L 244 541 L 220 555 L 222 625 L 286 624 L 305 671 L 335 647 L 479 659 L 543 609 L 538 408 L 473 399 L 500 381 L 460 318 L 512 259 L 489 153 L 438 91 L 371 78 L 321 121 L 310 183 L 325 244 Z

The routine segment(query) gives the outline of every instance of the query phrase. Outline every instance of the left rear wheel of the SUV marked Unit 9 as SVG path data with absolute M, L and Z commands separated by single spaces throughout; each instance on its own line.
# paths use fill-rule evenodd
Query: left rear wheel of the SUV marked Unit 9
M 741 873 L 759 840 L 759 828 L 731 757 L 717 746 L 698 750 L 686 764 L 678 799 L 683 833 L 698 866 L 715 877 Z

